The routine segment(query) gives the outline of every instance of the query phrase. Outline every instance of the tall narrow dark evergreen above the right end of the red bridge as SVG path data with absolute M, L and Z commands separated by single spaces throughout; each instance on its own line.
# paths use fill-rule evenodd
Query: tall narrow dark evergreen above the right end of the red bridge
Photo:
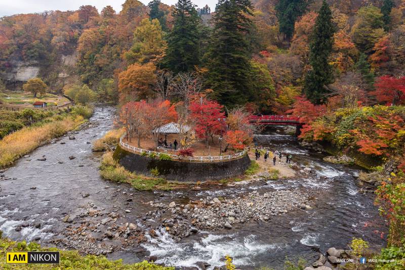
M 314 104 L 325 102 L 325 95 L 330 92 L 327 85 L 333 82 L 329 56 L 333 49 L 335 31 L 331 9 L 323 0 L 309 44 L 309 63 L 312 69 L 306 74 L 304 85 L 307 98 Z

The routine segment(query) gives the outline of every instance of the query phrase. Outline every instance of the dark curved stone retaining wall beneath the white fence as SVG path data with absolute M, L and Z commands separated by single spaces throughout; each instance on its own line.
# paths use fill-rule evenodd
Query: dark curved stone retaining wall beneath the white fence
M 157 169 L 159 177 L 179 182 L 219 180 L 238 176 L 244 173 L 251 163 L 248 155 L 223 162 L 158 160 L 128 152 L 119 146 L 117 146 L 113 158 L 131 172 L 152 176 L 151 171 Z

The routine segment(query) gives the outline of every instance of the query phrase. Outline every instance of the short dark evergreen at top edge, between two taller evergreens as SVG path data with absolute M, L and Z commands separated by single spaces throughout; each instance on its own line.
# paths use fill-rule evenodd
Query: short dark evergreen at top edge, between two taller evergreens
M 291 39 L 294 34 L 295 21 L 304 14 L 308 3 L 306 0 L 280 0 L 275 6 L 280 33 Z

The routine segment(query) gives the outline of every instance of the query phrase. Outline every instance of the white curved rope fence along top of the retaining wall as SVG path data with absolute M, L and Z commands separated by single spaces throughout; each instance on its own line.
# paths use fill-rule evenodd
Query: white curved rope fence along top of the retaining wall
M 141 149 L 129 144 L 126 144 L 123 142 L 123 138 L 126 136 L 124 133 L 121 138 L 119 138 L 119 145 L 124 148 L 125 150 L 132 151 L 134 153 L 139 153 L 139 154 L 144 154 L 146 156 L 151 155 L 152 153 L 154 154 L 155 157 L 159 157 L 160 155 L 165 155 L 165 156 L 170 156 L 171 159 L 179 159 L 179 160 L 187 160 L 187 161 L 199 161 L 199 162 L 213 162 L 213 161 L 223 161 L 223 160 L 231 160 L 231 159 L 237 159 L 241 156 L 244 156 L 247 153 L 247 150 L 245 149 L 242 152 L 233 154 L 233 155 L 226 155 L 226 156 L 195 156 L 195 157 L 188 157 L 188 156 L 179 156 L 179 155 L 173 155 L 173 154 L 167 154 L 167 153 L 160 153 L 160 152 L 155 152 L 155 151 L 150 151 L 150 150 L 145 150 Z

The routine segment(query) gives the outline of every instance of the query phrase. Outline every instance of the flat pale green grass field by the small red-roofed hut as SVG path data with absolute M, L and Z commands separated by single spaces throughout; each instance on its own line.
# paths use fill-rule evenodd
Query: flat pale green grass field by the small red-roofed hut
M 32 103 L 35 101 L 43 101 L 48 103 L 48 106 L 56 106 L 68 102 L 69 100 L 64 97 L 48 93 L 43 96 L 38 95 L 36 98 L 34 98 L 32 93 L 29 92 L 5 91 L 0 93 L 0 101 L 12 105 L 27 105 L 27 107 L 32 107 Z

